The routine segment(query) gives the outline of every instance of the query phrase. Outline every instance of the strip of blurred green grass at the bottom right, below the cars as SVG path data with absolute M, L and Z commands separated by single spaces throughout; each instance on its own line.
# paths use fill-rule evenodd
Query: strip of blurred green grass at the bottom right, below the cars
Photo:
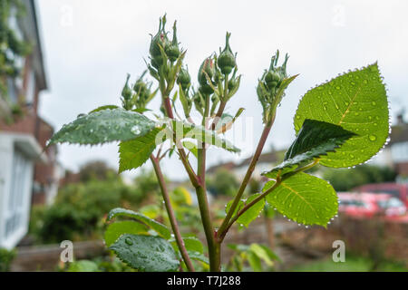
M 344 263 L 335 263 L 331 258 L 310 262 L 290 268 L 291 272 L 367 272 L 372 262 L 364 257 L 345 256 Z M 397 262 L 384 262 L 377 269 L 380 272 L 408 272 L 408 268 Z

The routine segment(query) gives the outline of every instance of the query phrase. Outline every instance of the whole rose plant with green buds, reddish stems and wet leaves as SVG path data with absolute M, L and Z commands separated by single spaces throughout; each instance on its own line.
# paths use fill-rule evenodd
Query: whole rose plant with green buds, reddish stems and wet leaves
M 253 96 L 263 109 L 259 117 L 263 121 L 262 134 L 247 173 L 226 206 L 225 218 L 215 225 L 206 189 L 206 155 L 209 146 L 239 152 L 224 136 L 243 111 L 238 110 L 233 118 L 225 111 L 227 103 L 234 101 L 241 80 L 237 53 L 232 51 L 231 34 L 227 33 L 225 47 L 210 54 L 199 67 L 198 86 L 194 86 L 183 63 L 186 51 L 180 48 L 176 23 L 172 37 L 169 35 L 164 15 L 159 31 L 151 36 L 146 61 L 157 90 L 144 79 L 145 73 L 132 84 L 128 74 L 121 107 L 106 105 L 81 114 L 50 140 L 50 144 L 88 145 L 119 141 L 120 172 L 137 169 L 151 160 L 170 228 L 139 212 L 114 208 L 107 217 L 106 246 L 121 261 L 140 271 L 195 271 L 197 263 L 209 264 L 210 271 L 221 271 L 221 245 L 228 230 L 236 223 L 248 227 L 266 204 L 298 224 L 326 227 L 337 214 L 335 189 L 304 171 L 317 164 L 351 168 L 382 150 L 390 125 L 386 90 L 377 63 L 338 75 L 303 95 L 294 116 L 296 139 L 283 162 L 262 173 L 269 179 L 263 189 L 245 199 L 280 102 L 298 76 L 287 73 L 288 55 L 281 61 L 277 51 L 260 74 Z M 161 98 L 160 111 L 151 111 L 147 105 L 156 95 Z M 183 117 L 176 111 L 177 102 L 181 103 Z M 192 117 L 193 108 L 202 117 L 199 121 Z M 170 142 L 169 150 L 164 150 L 165 142 Z M 197 237 L 180 232 L 160 166 L 172 154 L 177 154 L 196 191 L 207 241 L 205 250 Z M 192 166 L 193 159 L 197 159 L 197 168 Z M 258 247 L 250 247 L 254 248 Z

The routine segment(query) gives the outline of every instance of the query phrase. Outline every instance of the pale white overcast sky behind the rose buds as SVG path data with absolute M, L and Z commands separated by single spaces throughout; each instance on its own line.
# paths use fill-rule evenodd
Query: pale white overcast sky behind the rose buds
M 209 165 L 246 158 L 262 131 L 257 78 L 277 49 L 289 53 L 288 73 L 300 73 L 287 90 L 267 149 L 281 149 L 294 139 L 293 115 L 311 87 L 349 69 L 378 61 L 387 84 L 393 119 L 408 108 L 407 1 L 132 1 L 37 0 L 49 90 L 40 111 L 56 130 L 79 113 L 104 104 L 120 104 L 126 73 L 145 70 L 151 36 L 167 13 L 168 29 L 178 21 L 181 46 L 195 80 L 199 64 L 224 46 L 226 31 L 238 52 L 240 90 L 228 104 L 233 114 L 253 118 L 254 131 L 238 146 L 240 156 L 210 150 Z M 151 103 L 159 106 L 160 98 Z M 102 147 L 62 145 L 59 160 L 78 169 L 87 160 L 117 167 L 117 144 Z M 184 178 L 180 161 L 165 162 L 170 178 Z

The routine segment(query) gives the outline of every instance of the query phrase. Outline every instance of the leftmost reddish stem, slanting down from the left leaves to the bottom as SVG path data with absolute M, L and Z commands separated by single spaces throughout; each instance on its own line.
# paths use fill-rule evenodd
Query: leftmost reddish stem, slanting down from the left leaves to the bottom
M 167 214 L 169 215 L 171 229 L 173 230 L 177 246 L 180 249 L 180 254 L 183 258 L 184 263 L 189 269 L 189 271 L 194 272 L 195 271 L 194 266 L 192 265 L 191 260 L 189 259 L 189 254 L 187 253 L 186 247 L 184 246 L 183 239 L 181 238 L 179 225 L 174 215 L 173 208 L 171 207 L 169 192 L 166 187 L 163 173 L 161 172 L 161 169 L 160 169 L 159 160 L 156 159 L 152 154 L 151 154 L 151 163 L 153 164 L 153 168 L 154 168 L 154 171 L 156 172 L 157 179 L 159 180 L 161 195 L 164 199 L 164 205 L 166 207 Z

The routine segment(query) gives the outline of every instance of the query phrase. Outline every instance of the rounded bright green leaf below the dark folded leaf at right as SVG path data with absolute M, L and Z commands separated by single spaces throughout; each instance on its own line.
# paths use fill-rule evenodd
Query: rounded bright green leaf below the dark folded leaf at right
M 267 176 L 273 178 L 272 173 Z M 270 189 L 275 182 L 268 181 L 262 190 Z M 323 227 L 337 214 L 338 208 L 335 189 L 327 181 L 304 172 L 282 179 L 277 189 L 267 195 L 267 202 L 297 223 Z

